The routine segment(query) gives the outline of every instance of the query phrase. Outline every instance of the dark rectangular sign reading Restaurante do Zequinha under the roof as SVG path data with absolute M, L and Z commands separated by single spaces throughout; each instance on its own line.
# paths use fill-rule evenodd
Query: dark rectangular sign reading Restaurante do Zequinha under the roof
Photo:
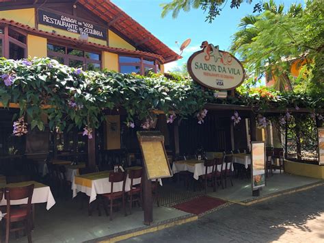
M 64 29 L 71 33 L 83 34 L 107 40 L 106 28 L 88 23 L 87 21 L 76 18 L 75 16 L 66 16 L 64 14 L 38 10 L 38 23 L 53 26 L 58 29 Z

